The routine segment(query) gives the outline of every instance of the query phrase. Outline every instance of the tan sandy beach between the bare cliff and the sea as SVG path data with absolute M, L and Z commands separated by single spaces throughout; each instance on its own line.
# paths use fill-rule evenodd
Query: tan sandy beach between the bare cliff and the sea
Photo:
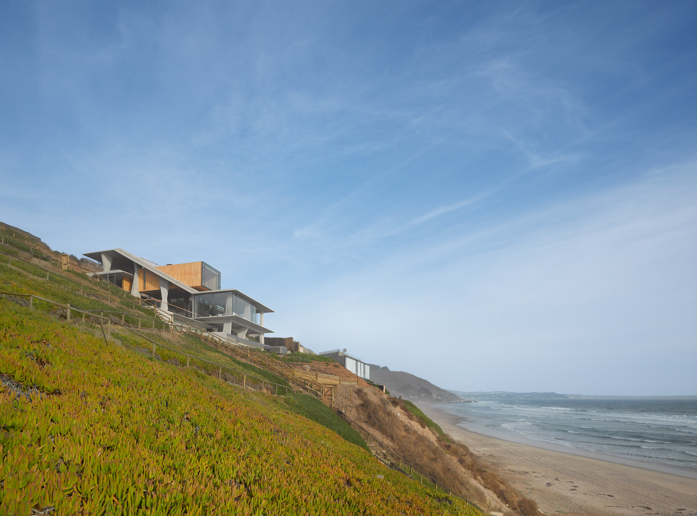
M 545 514 L 697 515 L 697 472 L 660 465 L 648 469 L 636 465 L 638 461 L 503 440 L 459 426 L 464 419 L 437 404 L 420 403 L 419 408 L 535 500 Z

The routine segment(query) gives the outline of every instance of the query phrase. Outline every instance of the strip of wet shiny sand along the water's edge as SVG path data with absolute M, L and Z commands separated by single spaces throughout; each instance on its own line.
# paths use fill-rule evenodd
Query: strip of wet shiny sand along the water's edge
M 545 450 L 557 451 L 559 453 L 569 453 L 570 455 L 579 455 L 582 457 L 588 457 L 597 460 L 606 460 L 608 462 L 615 462 L 616 464 L 624 464 L 627 466 L 638 467 L 642 469 L 651 469 L 653 471 L 662 471 L 671 475 L 686 476 L 687 478 L 697 478 L 697 469 L 694 468 L 675 466 L 672 464 L 664 464 L 663 462 L 651 462 L 649 460 L 637 460 L 626 457 L 618 457 L 617 455 L 610 455 L 609 453 L 599 453 L 597 451 L 582 450 L 579 448 L 572 448 L 571 446 L 562 446 L 561 444 L 554 444 L 553 442 L 536 441 L 528 437 L 523 437 L 522 435 L 516 435 L 514 433 L 508 433 L 504 432 L 503 430 L 496 430 L 495 428 L 491 428 L 489 426 L 477 424 L 475 421 L 470 421 L 466 417 L 458 416 L 457 414 L 452 414 L 451 412 L 446 412 L 445 409 L 441 408 L 441 406 L 438 406 L 448 405 L 448 403 L 432 403 L 431 405 L 433 406 L 433 408 L 441 410 L 441 412 L 443 413 L 443 417 L 447 417 L 448 422 L 450 424 L 459 428 L 464 428 L 468 432 L 485 435 L 487 437 L 493 437 L 495 439 L 500 439 L 503 441 L 524 444 L 526 446 L 535 446 L 537 448 L 542 448 Z

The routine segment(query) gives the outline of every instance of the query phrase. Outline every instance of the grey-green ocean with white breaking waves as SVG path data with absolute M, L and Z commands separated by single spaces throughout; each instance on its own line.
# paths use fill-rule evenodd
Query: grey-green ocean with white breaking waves
M 443 408 L 466 418 L 464 426 L 474 431 L 483 426 L 571 449 L 697 469 L 697 400 L 477 400 Z

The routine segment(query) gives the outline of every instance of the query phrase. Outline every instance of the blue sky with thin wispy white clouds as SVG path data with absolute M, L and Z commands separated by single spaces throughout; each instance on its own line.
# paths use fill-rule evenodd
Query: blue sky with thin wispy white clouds
M 697 394 L 697 5 L 13 2 L 0 220 L 461 390 Z

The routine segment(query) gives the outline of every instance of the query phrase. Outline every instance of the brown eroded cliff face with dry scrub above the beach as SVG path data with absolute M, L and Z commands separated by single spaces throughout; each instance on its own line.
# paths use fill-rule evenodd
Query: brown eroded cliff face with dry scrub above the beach
M 459 458 L 441 446 L 440 438 L 423 422 L 391 402 L 374 387 L 339 385 L 335 391 L 334 406 L 371 432 L 395 453 L 433 476 L 453 492 L 476 503 L 487 511 L 512 513 L 496 494 L 475 479 L 472 471 Z M 380 453 L 381 446 L 370 446 Z

